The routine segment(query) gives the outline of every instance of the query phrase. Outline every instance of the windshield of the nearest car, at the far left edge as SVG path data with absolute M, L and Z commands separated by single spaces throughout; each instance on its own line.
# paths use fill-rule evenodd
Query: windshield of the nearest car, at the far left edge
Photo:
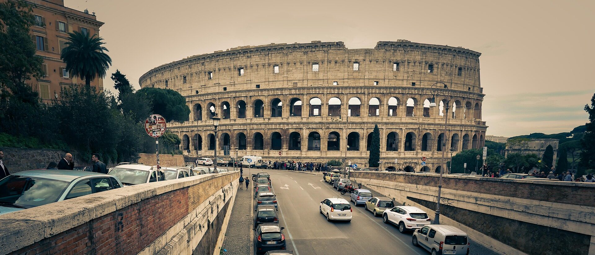
M 57 202 L 70 182 L 12 175 L 0 181 L 0 205 L 23 208 Z

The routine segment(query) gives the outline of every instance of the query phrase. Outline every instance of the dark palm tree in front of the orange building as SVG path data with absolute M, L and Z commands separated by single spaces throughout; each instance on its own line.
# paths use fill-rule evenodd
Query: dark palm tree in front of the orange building
M 62 50 L 60 58 L 66 62 L 66 69 L 73 76 L 84 78 L 87 86 L 95 77 L 104 78 L 111 65 L 111 58 L 105 53 L 109 52 L 101 42 L 104 40 L 96 34 L 89 37 L 87 34 L 74 31 L 68 33 L 70 38 Z

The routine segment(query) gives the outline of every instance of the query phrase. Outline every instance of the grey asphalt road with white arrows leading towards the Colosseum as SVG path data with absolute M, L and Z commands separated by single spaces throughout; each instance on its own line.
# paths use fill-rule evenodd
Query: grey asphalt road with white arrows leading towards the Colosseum
M 396 226 L 384 224 L 381 217 L 374 217 L 363 206 L 355 207 L 351 203 L 351 222 L 327 222 L 318 211 L 320 201 L 333 196 L 349 200 L 349 193 L 341 195 L 322 181 L 322 176 L 264 171 L 271 174 L 280 225 L 285 227 L 287 250 L 293 250 L 293 254 L 429 254 L 411 244 L 411 233 L 401 234 Z

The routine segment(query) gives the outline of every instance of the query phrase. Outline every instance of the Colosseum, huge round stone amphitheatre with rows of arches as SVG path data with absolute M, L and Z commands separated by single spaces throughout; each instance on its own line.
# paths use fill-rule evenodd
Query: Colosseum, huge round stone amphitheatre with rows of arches
M 347 158 L 365 167 L 378 125 L 382 168 L 439 171 L 443 148 L 450 157 L 450 148 L 456 154 L 484 144 L 480 55 L 408 40 L 378 42 L 374 49 L 271 43 L 167 63 L 146 72 L 139 84 L 186 97 L 190 120 L 168 129 L 190 156 L 214 154 L 211 117 L 217 114 L 218 155 L 225 146 L 239 157 Z M 436 88 L 437 106 L 430 107 Z M 445 109 L 451 112 L 446 134 Z

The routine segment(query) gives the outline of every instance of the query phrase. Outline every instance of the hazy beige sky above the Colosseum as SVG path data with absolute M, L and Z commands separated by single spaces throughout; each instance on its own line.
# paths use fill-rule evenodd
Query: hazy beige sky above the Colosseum
M 65 0 L 105 24 L 112 66 L 140 75 L 188 56 L 268 43 L 379 41 L 481 52 L 487 135 L 569 132 L 595 93 L 595 1 Z M 106 77 L 104 87 L 113 82 Z

